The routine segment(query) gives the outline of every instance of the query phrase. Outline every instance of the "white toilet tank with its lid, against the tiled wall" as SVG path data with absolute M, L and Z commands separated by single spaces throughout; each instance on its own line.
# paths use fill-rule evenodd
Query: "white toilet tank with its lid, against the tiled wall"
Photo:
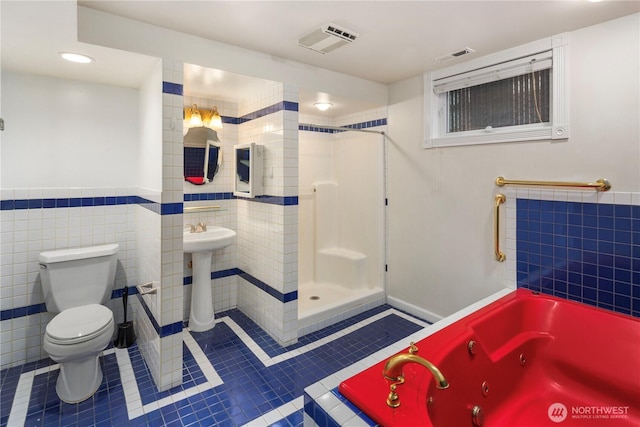
M 104 304 L 116 276 L 118 244 L 42 252 L 40 281 L 47 311 Z

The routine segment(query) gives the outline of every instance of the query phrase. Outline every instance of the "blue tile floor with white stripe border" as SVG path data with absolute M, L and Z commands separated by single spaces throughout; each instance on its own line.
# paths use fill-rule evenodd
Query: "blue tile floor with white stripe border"
M 281 347 L 239 310 L 217 317 L 183 331 L 183 384 L 164 392 L 137 345 L 105 350 L 100 388 L 74 405 L 58 399 L 50 359 L 0 371 L 0 427 L 302 426 L 305 387 L 424 326 L 384 305 Z

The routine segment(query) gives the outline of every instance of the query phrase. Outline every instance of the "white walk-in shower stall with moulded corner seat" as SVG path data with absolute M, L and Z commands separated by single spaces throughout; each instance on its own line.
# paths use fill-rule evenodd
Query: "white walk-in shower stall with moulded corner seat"
M 302 129 L 319 131 L 299 132 L 299 336 L 385 302 L 385 137 Z

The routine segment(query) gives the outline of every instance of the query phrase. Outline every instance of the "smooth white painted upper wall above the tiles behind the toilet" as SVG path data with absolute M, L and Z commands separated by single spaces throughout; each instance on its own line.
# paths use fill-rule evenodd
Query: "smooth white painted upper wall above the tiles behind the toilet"
M 138 91 L 3 71 L 2 187 L 135 186 Z

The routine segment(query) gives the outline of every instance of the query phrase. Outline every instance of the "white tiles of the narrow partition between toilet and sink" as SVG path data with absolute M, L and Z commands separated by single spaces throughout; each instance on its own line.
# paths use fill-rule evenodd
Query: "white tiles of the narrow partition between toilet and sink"
M 162 80 L 182 84 L 183 64 L 163 59 Z M 149 200 L 163 204 L 183 203 L 182 170 L 182 95 L 162 96 L 162 190 L 150 192 Z M 141 162 L 146 159 L 141 158 Z M 138 208 L 138 270 L 139 284 L 153 282 L 156 294 L 142 296 L 153 320 L 160 327 L 182 321 L 182 214 L 159 215 L 143 207 Z M 160 390 L 182 382 L 182 334 L 160 338 L 151 319 L 138 304 L 138 344 Z M 179 344 L 177 344 L 179 342 Z

